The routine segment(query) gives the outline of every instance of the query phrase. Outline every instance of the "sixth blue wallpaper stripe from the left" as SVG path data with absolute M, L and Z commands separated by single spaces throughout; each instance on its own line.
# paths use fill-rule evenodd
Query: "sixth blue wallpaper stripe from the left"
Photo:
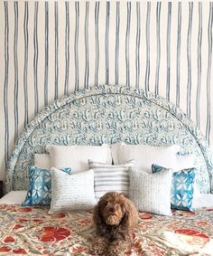
M 58 2 L 54 2 L 55 14 L 55 95 L 54 100 L 59 98 L 59 8 Z

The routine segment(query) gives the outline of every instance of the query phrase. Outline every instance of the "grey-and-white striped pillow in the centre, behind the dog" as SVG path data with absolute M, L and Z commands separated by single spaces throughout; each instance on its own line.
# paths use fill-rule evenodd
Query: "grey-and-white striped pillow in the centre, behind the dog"
M 134 168 L 134 160 L 124 165 L 114 166 L 88 159 L 88 166 L 94 170 L 94 189 L 97 200 L 109 191 L 128 195 L 129 171 Z

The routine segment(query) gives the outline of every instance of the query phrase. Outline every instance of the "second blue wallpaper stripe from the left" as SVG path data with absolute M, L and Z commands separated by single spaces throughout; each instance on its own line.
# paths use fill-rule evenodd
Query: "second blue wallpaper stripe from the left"
M 18 2 L 14 2 L 14 143 L 18 138 Z

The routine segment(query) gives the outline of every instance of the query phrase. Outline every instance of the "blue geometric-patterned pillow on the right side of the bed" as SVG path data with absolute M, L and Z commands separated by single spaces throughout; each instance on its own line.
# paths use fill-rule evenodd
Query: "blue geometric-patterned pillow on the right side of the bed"
M 162 166 L 152 165 L 152 172 L 160 172 L 165 168 Z M 171 182 L 171 208 L 179 210 L 190 210 L 195 183 L 195 168 L 182 169 L 174 172 Z

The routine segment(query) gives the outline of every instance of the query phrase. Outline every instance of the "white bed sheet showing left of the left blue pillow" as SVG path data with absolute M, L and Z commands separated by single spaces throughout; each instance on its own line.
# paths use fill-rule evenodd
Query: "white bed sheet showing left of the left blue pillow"
M 22 204 L 27 191 L 11 191 L 0 198 L 0 204 Z

